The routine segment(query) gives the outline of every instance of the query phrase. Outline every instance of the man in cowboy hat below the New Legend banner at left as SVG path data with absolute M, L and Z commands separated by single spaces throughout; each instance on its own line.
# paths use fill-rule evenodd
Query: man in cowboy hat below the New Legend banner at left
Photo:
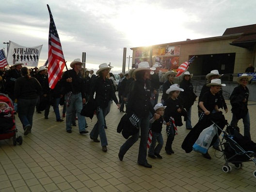
M 13 69 L 8 71 L 6 75 L 6 89 L 5 91 L 7 92 L 8 96 L 14 101 L 15 96 L 14 96 L 14 86 L 15 86 L 15 81 L 17 78 L 21 77 L 20 74 L 20 69 L 22 68 L 23 63 L 16 61 L 15 64 L 13 65 Z

